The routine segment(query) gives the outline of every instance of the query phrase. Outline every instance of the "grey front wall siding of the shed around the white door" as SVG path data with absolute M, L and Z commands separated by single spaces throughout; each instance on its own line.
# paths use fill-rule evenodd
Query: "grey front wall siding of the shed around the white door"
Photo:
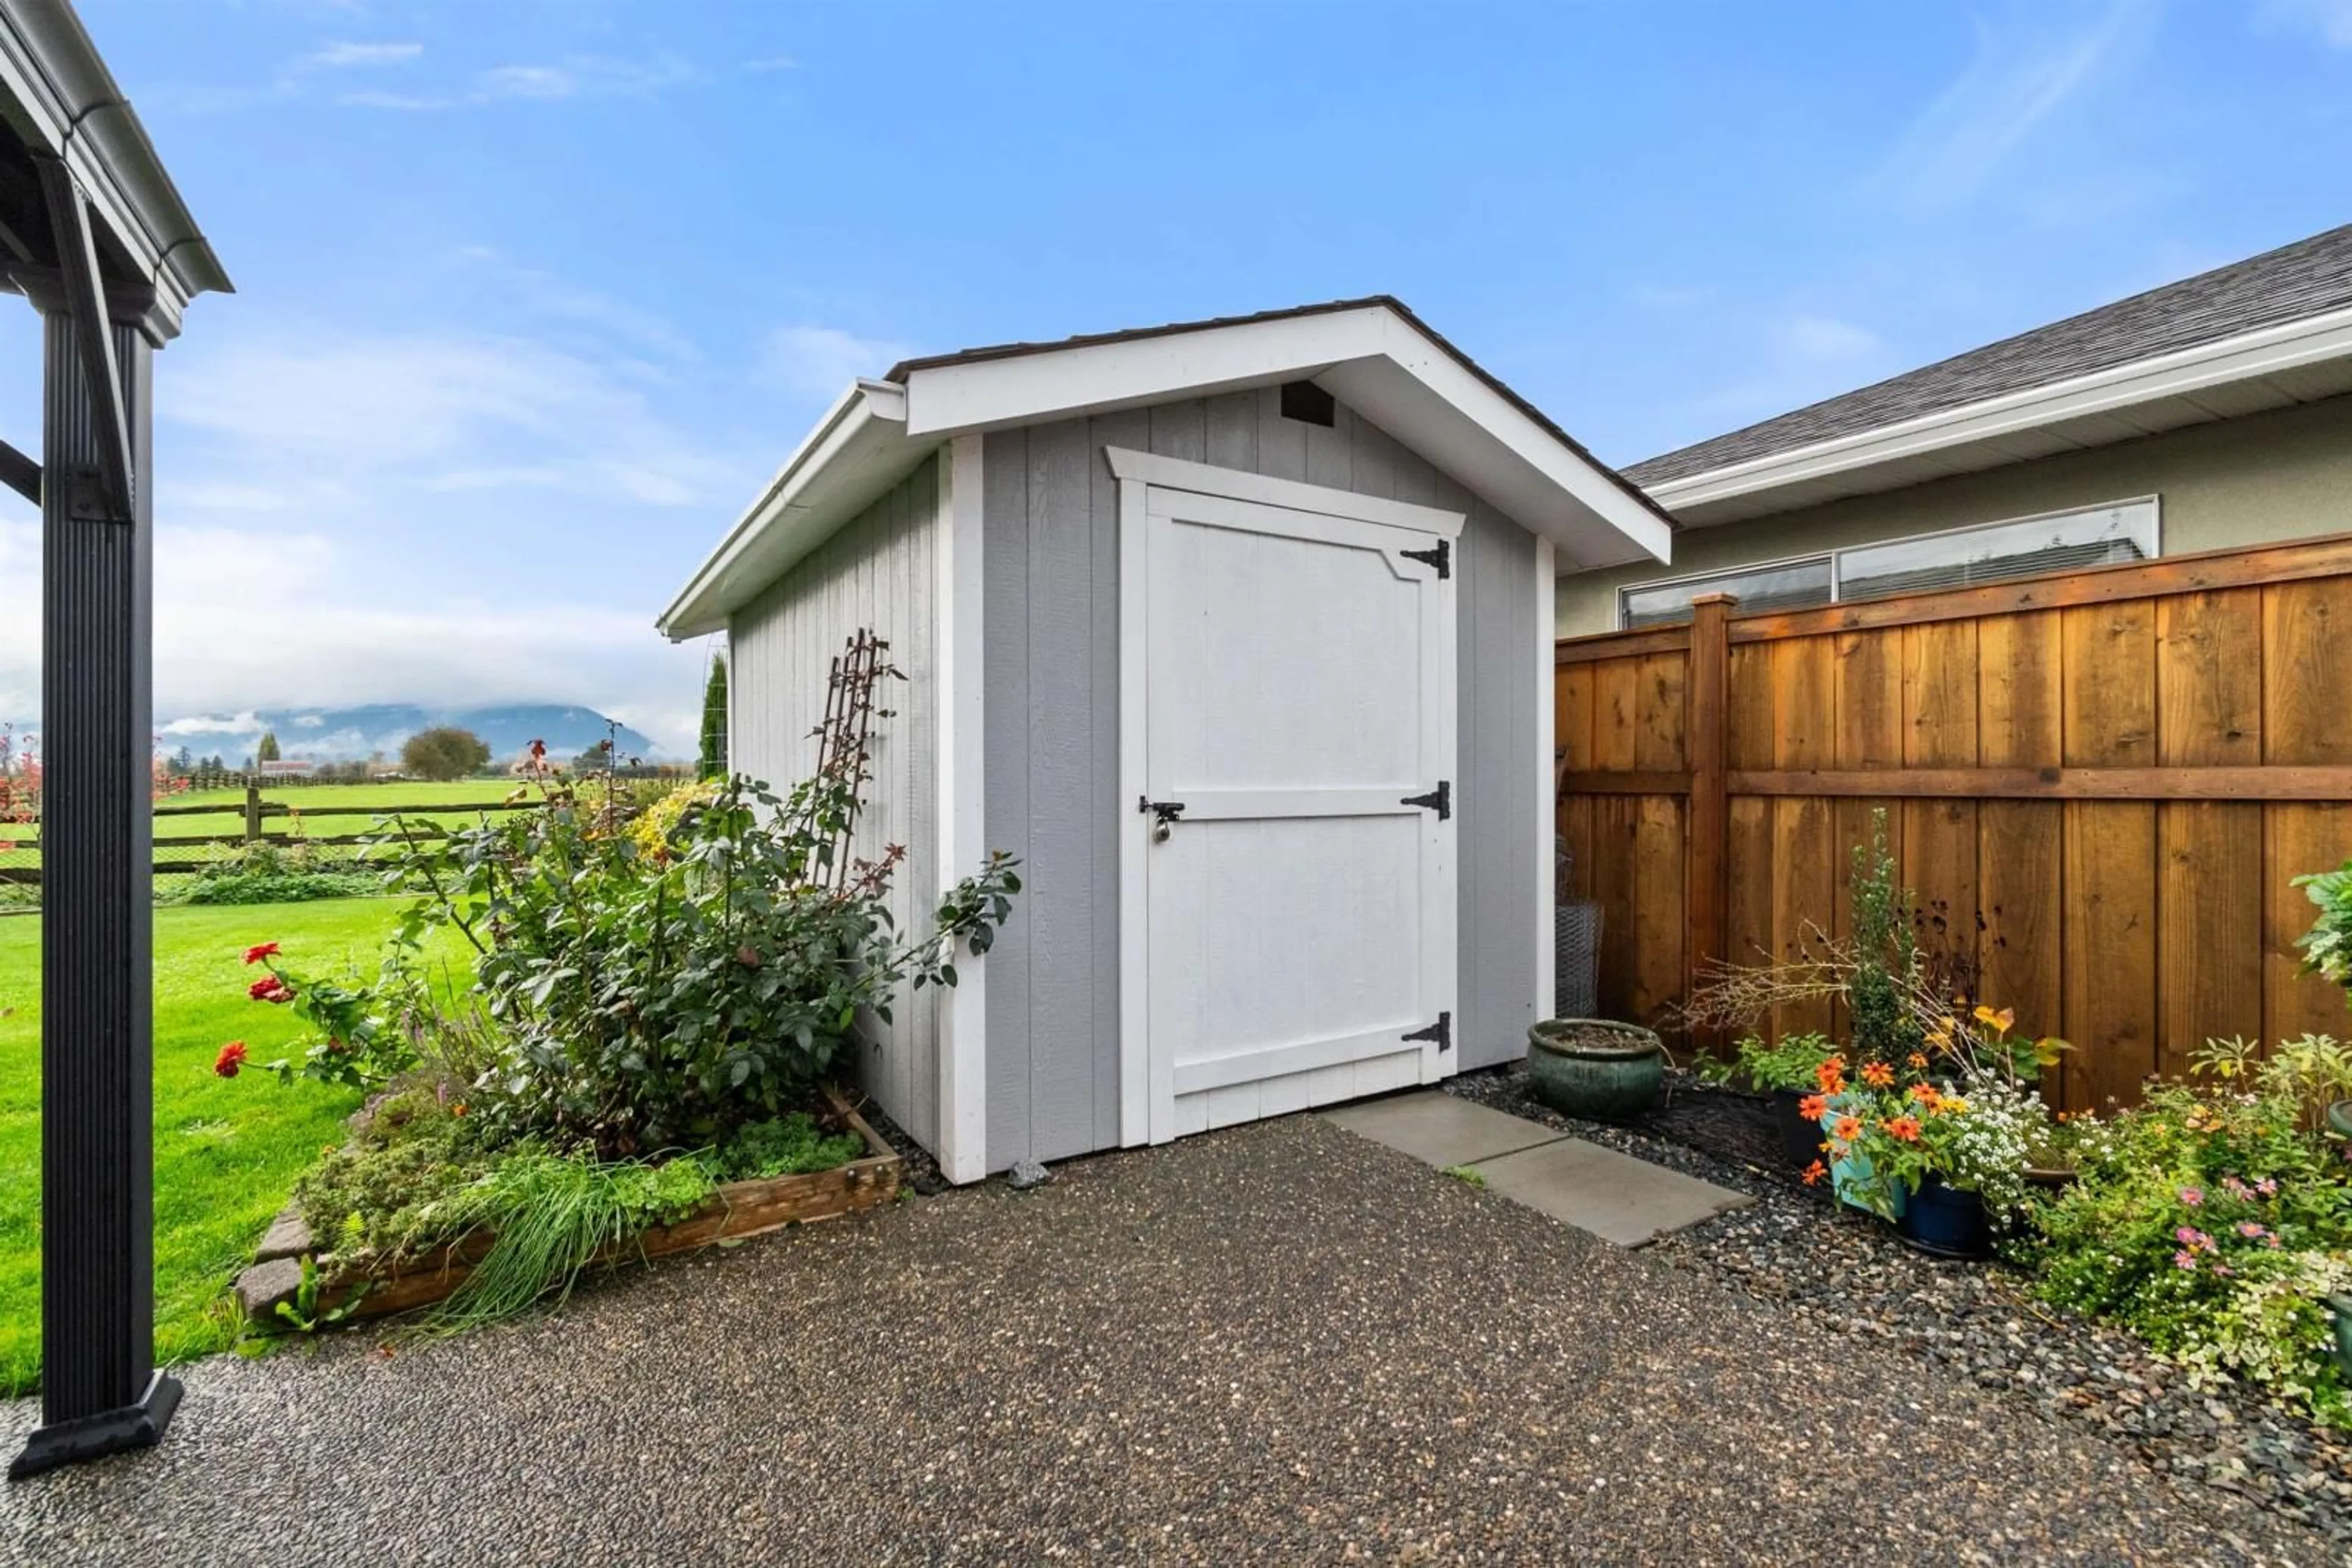
M 1000 430 L 983 447 L 988 846 L 1025 896 L 988 954 L 988 1168 L 1120 1143 L 1120 508 L 1105 447 L 1468 515 L 1456 543 L 1456 1070 L 1512 1060 L 1536 1013 L 1536 541 L 1345 404 L 1279 390 Z M 1435 780 L 1432 780 L 1435 783 Z M 884 1100 L 889 1105 L 889 1100 Z M 891 1112 L 896 1114 L 896 1110 Z M 915 1131 L 915 1124 L 908 1124 Z M 922 1126 L 929 1126 L 924 1121 Z

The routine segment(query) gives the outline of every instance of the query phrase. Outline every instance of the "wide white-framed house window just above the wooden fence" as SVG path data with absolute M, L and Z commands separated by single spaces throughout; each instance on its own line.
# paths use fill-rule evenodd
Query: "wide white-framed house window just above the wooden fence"
M 1665 625 L 1691 618 L 1691 599 L 1729 592 L 1743 611 L 1809 609 L 1898 592 L 1971 588 L 2023 576 L 2143 562 L 2157 555 L 2157 498 L 2117 501 L 2074 512 L 1987 522 L 1945 534 L 1891 538 L 1828 555 L 1736 567 L 1705 576 L 1637 583 L 1618 590 L 1618 625 Z

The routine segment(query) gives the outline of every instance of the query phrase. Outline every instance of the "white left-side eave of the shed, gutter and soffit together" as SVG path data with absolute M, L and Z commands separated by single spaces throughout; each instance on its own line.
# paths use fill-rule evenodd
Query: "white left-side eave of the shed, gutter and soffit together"
M 924 442 L 924 449 L 936 444 Z M 908 451 L 906 442 L 906 388 L 854 381 L 654 625 L 670 642 L 724 630 L 736 604 L 776 581 L 920 461 L 922 451 Z

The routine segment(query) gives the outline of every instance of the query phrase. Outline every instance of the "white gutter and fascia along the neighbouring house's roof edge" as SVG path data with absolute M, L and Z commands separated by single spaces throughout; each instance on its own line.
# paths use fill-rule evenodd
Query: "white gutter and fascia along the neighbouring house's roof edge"
M 2331 310 L 1644 489 L 1682 510 L 2343 357 L 2352 310 Z

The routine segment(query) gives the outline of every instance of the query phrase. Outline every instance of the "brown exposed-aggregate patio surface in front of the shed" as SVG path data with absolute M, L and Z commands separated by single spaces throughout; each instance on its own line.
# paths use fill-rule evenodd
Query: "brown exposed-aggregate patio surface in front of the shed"
M 186 1368 L 21 1563 L 2310 1563 L 2079 1422 L 1312 1117 Z M 0 1406 L 14 1448 L 28 1403 Z

